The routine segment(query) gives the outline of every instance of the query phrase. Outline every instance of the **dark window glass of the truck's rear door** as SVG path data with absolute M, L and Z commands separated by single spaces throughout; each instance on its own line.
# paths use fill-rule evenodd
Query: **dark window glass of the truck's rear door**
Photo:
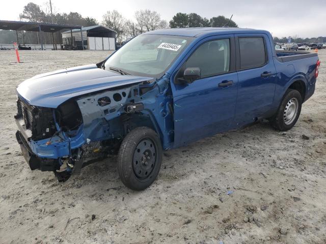
M 266 63 L 266 48 L 262 37 L 240 37 L 240 69 L 251 69 Z

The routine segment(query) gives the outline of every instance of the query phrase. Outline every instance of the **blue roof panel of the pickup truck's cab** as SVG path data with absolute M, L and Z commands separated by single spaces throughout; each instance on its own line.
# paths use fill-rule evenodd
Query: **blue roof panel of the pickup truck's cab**
M 147 32 L 146 34 L 174 35 L 185 37 L 198 37 L 205 34 L 237 34 L 237 33 L 268 33 L 260 29 L 231 28 L 231 27 L 193 27 L 193 28 L 171 28 L 158 29 L 157 31 Z

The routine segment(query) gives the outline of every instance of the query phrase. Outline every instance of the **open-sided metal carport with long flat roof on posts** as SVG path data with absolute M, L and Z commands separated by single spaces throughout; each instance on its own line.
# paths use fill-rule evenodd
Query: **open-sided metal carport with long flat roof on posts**
M 55 33 L 61 31 L 62 29 L 70 29 L 72 37 L 72 29 L 80 29 L 80 36 L 83 40 L 82 25 L 72 25 L 72 24 L 50 24 L 50 23 L 38 23 L 38 22 L 25 22 L 25 21 L 11 21 L 11 20 L 0 20 L 0 29 L 10 29 L 16 31 L 17 43 L 18 43 L 18 33 L 17 31 L 28 31 L 28 32 L 49 32 Z M 52 35 L 53 38 L 53 35 Z M 42 37 L 40 35 L 41 49 L 43 50 Z M 55 41 L 53 38 L 53 49 L 55 48 Z

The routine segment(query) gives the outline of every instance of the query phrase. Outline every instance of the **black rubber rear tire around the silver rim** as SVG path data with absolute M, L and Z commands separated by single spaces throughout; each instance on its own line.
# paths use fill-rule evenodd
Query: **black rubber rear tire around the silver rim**
M 287 120 L 285 118 L 286 107 L 291 103 L 291 101 L 297 101 L 297 112 L 295 116 L 291 120 Z M 285 95 L 283 96 L 283 100 L 280 104 L 280 107 L 276 114 L 269 119 L 270 125 L 273 126 L 275 129 L 280 131 L 287 131 L 290 130 L 296 123 L 297 119 L 301 113 L 301 106 L 302 106 L 302 97 L 301 94 L 294 89 L 287 89 Z M 288 124 L 286 124 L 288 123 Z

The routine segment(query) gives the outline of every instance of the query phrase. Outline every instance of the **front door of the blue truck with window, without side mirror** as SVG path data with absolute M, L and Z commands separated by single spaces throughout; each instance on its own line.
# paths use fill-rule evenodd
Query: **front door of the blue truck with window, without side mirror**
M 234 119 L 238 78 L 233 35 L 202 41 L 173 77 L 174 146 L 225 131 Z M 186 68 L 200 68 L 201 77 L 178 84 Z

